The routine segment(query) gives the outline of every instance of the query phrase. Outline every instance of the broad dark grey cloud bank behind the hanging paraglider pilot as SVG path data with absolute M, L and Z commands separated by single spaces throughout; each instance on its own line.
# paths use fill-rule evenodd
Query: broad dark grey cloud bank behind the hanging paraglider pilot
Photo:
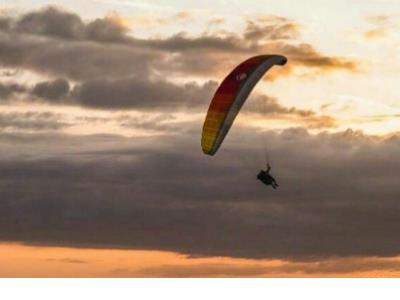
M 256 131 L 234 128 L 216 157 L 198 136 L 3 135 L 0 238 L 291 260 L 399 254 L 398 137 L 268 133 L 273 191 L 255 179 Z

